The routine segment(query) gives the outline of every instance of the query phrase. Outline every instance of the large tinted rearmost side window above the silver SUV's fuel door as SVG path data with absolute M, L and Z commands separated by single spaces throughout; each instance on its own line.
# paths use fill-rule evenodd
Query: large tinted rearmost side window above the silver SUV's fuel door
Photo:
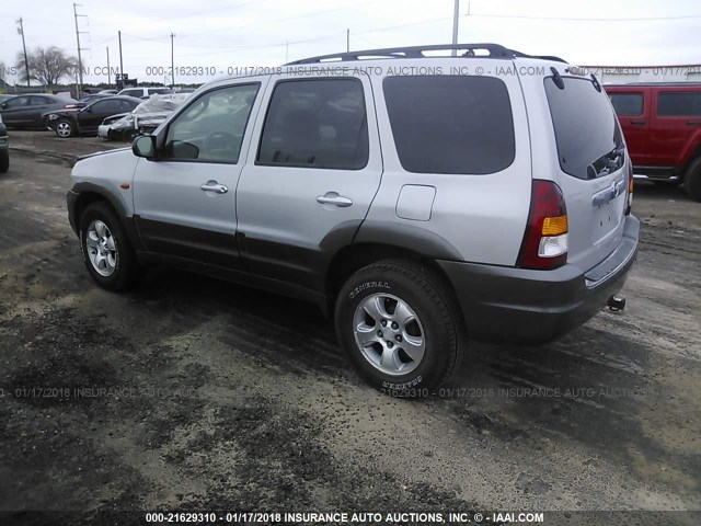
M 402 168 L 414 173 L 494 173 L 516 155 L 506 84 L 493 77 L 401 76 L 383 82 Z

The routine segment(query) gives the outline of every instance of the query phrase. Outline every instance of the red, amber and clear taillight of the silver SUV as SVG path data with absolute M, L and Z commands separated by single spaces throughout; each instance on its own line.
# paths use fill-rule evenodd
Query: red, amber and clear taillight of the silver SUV
M 518 266 L 550 270 L 564 265 L 567 231 L 567 209 L 560 186 L 552 181 L 533 181 Z

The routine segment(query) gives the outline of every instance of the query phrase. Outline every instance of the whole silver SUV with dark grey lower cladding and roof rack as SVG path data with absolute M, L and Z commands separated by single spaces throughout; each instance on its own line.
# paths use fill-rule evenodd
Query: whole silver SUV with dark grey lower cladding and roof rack
M 309 299 L 370 384 L 409 393 L 468 338 L 545 342 L 621 306 L 640 224 L 593 76 L 493 44 L 256 73 L 76 164 L 69 217 L 99 285 L 168 262 Z

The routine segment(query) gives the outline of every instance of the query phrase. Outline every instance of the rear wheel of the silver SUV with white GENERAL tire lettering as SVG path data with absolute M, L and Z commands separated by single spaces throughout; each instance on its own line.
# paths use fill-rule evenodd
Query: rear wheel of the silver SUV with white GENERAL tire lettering
M 398 307 L 412 321 L 402 322 Z M 456 301 L 433 271 L 416 263 L 387 260 L 353 274 L 336 298 L 335 325 L 360 376 L 389 395 L 428 396 L 461 359 Z

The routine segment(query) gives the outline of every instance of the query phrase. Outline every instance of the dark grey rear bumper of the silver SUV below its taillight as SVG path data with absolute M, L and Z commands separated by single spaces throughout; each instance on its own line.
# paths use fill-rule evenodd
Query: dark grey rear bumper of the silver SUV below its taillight
M 627 216 L 621 243 L 583 272 L 566 264 L 554 271 L 438 261 L 462 307 L 470 338 L 490 342 L 543 343 L 599 312 L 625 283 L 640 237 L 640 221 Z

